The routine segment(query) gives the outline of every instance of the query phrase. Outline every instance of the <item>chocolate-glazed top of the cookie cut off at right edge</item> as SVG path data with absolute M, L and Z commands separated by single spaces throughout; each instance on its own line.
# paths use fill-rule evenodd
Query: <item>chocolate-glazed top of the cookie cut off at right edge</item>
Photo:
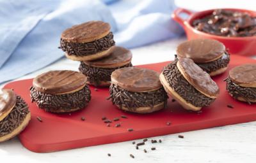
M 256 64 L 243 64 L 234 67 L 229 71 L 229 78 L 237 85 L 256 84 Z

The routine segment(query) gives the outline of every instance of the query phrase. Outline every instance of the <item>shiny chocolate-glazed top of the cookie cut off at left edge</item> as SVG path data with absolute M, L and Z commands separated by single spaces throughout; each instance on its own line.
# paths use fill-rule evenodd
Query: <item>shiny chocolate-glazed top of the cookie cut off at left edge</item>
M 12 89 L 0 89 L 0 116 L 12 109 L 16 103 L 16 95 Z

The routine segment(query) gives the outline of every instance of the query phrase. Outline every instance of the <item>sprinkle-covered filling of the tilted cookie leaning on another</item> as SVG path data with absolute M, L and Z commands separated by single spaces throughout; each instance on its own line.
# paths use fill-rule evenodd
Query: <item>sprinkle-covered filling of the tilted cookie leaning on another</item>
M 205 96 L 193 85 L 191 85 L 180 73 L 177 67 L 178 59 L 175 59 L 171 64 L 164 67 L 163 74 L 166 78 L 168 85 L 172 87 L 180 97 L 182 97 L 188 103 L 193 104 L 196 107 L 209 106 L 215 99 Z

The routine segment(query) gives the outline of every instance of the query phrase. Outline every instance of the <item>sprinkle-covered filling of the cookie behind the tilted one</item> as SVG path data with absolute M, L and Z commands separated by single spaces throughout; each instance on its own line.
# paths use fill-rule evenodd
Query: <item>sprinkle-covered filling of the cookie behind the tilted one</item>
M 207 73 L 211 73 L 213 71 L 217 71 L 218 69 L 227 67 L 229 61 L 230 61 L 230 54 L 228 52 L 225 52 L 222 55 L 222 57 L 220 57 L 220 59 L 214 60 L 212 62 L 196 63 L 196 64 Z

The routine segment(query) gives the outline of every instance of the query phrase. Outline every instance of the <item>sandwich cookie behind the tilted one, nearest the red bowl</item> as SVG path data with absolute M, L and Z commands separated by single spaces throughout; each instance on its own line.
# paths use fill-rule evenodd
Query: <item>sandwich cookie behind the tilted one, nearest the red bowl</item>
M 214 39 L 192 39 L 177 47 L 178 57 L 192 59 L 204 71 L 215 76 L 226 71 L 230 56 L 225 46 Z

